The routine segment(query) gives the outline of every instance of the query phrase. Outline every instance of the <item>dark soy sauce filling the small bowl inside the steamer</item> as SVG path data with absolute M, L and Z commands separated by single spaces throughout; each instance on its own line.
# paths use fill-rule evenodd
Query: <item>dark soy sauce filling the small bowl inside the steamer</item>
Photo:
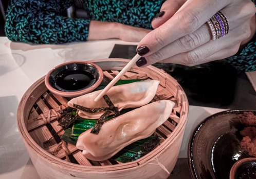
M 95 83 L 94 76 L 86 71 L 68 71 L 58 75 L 54 86 L 61 91 L 78 91 Z

